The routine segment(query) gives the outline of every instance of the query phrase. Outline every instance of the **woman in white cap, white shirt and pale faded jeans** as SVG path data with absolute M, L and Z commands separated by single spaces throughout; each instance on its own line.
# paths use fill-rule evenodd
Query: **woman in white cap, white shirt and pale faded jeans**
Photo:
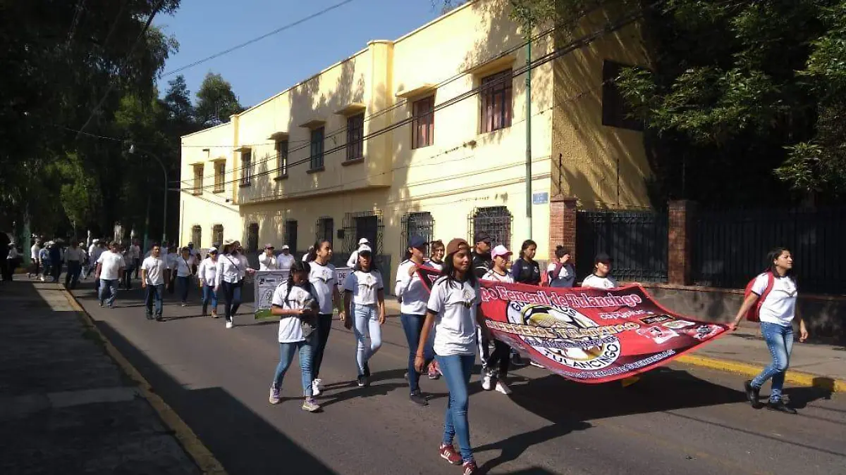
M 370 247 L 358 251 L 359 261 L 343 282 L 343 310 L 353 319 L 353 329 L 358 347 L 355 363 L 359 367 L 358 385 L 369 384 L 368 362 L 382 347 L 382 325 L 385 323 L 385 285 L 382 273 L 376 269 Z M 370 345 L 367 345 L 367 338 Z

